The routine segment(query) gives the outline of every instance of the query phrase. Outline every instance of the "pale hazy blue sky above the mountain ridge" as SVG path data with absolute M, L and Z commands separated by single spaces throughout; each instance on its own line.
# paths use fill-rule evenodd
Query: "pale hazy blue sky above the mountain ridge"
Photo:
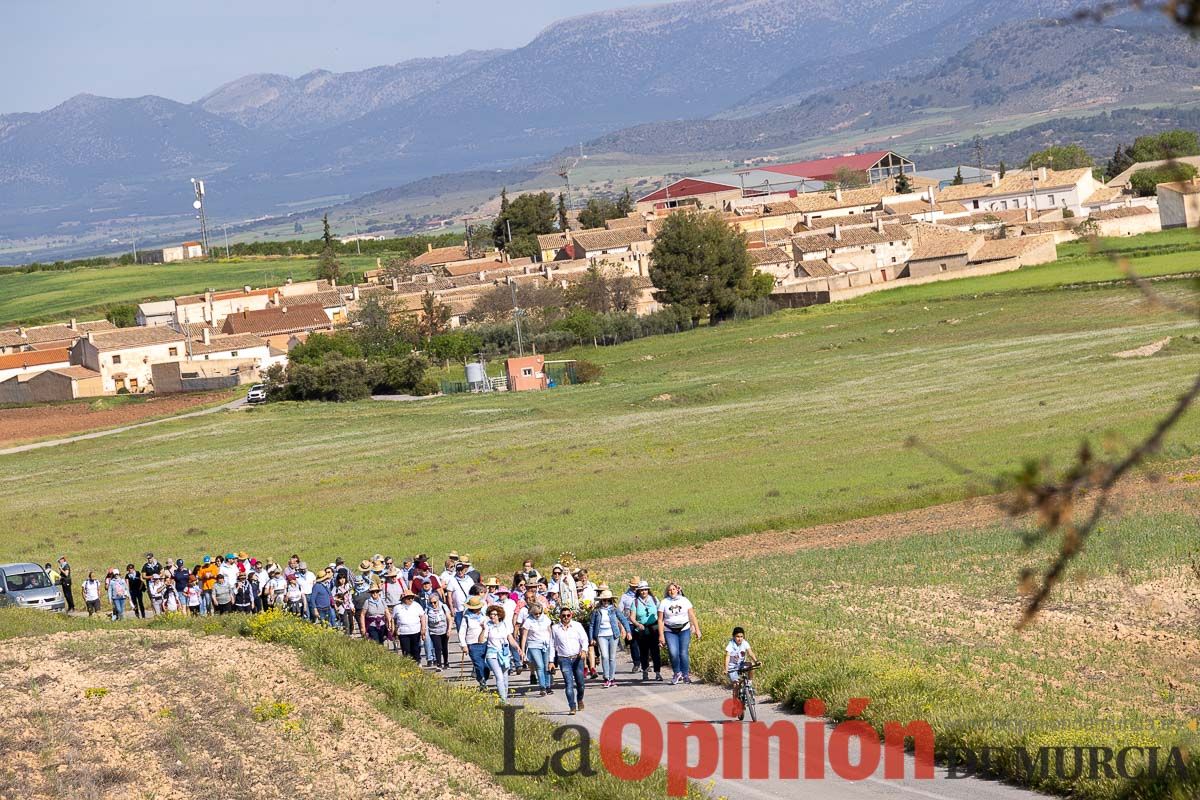
M 0 113 L 80 92 L 198 100 L 251 72 L 361 70 L 520 47 L 547 24 L 664 0 L 17 0 Z

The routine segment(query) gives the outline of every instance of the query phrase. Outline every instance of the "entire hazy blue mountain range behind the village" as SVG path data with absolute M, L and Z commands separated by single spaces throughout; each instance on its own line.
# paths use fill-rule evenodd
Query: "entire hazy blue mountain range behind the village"
M 564 19 L 510 50 L 247 76 L 192 103 L 80 95 L 0 115 L 0 239 L 185 218 L 191 176 L 208 179 L 212 213 L 235 218 L 448 173 L 478 185 L 581 142 L 635 155 L 820 150 L 1194 94 L 1186 37 L 1141 17 L 1045 22 L 1079 4 L 680 0 Z

